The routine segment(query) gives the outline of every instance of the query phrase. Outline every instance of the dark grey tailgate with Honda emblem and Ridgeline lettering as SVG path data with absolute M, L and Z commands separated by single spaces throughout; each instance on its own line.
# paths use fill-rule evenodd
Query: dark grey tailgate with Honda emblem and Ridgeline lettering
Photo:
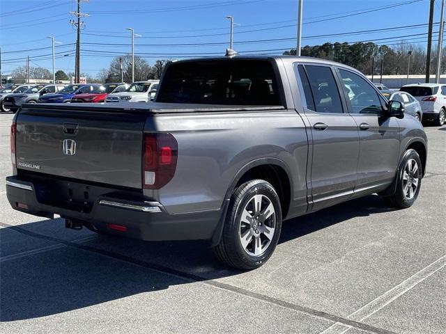
M 141 189 L 146 113 L 26 107 L 17 115 L 17 169 Z

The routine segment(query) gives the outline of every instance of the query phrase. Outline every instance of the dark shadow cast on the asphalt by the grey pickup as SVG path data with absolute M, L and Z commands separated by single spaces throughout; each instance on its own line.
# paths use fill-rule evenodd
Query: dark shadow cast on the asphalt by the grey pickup
M 346 202 L 287 221 L 279 243 L 354 216 L 387 211 L 390 209 L 378 196 Z M 20 225 L 20 228 L 36 233 L 42 231 L 40 233 L 66 240 L 61 219 L 38 221 Z M 0 230 L 1 253 L 8 253 L 8 248 L 15 242 L 33 243 L 36 240 L 36 236 L 24 238 L 17 235 L 20 234 L 14 228 Z M 240 271 L 222 267 L 204 241 L 146 242 L 98 235 L 79 245 L 65 244 L 43 253 L 0 262 L 0 321 L 32 319 L 77 310 L 141 292 L 155 292 L 190 283 L 187 278 L 210 280 L 240 274 Z M 17 248 L 17 245 L 12 248 Z M 162 271 L 185 273 L 186 278 Z

